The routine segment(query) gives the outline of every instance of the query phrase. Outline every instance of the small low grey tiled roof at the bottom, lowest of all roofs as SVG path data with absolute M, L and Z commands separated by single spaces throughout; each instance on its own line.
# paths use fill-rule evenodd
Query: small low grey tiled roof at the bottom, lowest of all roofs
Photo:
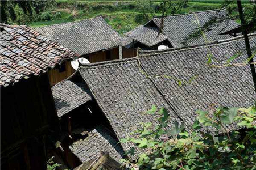
M 95 159 L 101 152 L 107 151 L 117 162 L 123 158 L 125 152 L 104 125 L 92 130 L 81 130 L 81 134 L 85 138 L 72 143 L 69 148 L 82 163 Z

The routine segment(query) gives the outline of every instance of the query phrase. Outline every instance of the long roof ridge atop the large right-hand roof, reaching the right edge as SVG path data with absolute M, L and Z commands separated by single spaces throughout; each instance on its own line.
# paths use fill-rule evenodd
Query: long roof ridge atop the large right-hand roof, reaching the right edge
M 254 37 L 256 36 L 256 33 L 251 33 L 248 35 L 249 37 Z M 138 49 L 138 56 L 150 56 L 150 55 L 155 55 L 155 54 L 163 54 L 163 53 L 168 53 L 168 52 L 173 52 L 177 50 L 189 50 L 189 49 L 195 49 L 195 48 L 200 48 L 201 46 L 207 46 L 207 45 L 220 45 L 220 44 L 225 44 L 233 41 L 238 41 L 243 39 L 243 36 L 237 36 L 233 37 L 231 39 L 225 39 L 225 40 L 220 40 L 218 42 L 209 42 L 206 44 L 199 44 L 199 45 L 192 45 L 192 46 L 185 46 L 181 48 L 170 48 L 170 49 L 163 49 L 163 50 L 142 50 Z

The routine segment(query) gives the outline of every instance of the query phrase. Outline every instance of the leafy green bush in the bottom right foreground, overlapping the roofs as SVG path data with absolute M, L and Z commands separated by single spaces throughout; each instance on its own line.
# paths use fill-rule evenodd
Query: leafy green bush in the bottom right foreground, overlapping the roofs
M 146 114 L 156 114 L 152 107 Z M 158 111 L 159 125 L 141 124 L 132 142 L 143 154 L 135 161 L 122 160 L 128 169 L 256 169 L 256 108 L 211 107 L 197 111 L 191 129 L 177 122 L 168 130 L 167 110 Z M 228 128 L 232 124 L 241 130 Z M 133 151 L 127 155 L 133 155 Z

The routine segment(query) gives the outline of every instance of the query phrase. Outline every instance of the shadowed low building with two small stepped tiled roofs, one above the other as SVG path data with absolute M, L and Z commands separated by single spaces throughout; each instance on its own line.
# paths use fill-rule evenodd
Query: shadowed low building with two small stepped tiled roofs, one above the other
M 125 152 L 79 71 L 52 87 L 62 138 L 55 154 L 59 163 L 75 168 L 101 152 L 119 162 Z

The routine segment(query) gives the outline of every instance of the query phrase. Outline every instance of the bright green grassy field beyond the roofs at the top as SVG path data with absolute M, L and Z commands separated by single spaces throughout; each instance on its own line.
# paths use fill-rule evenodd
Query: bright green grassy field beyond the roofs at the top
M 183 8 L 179 13 L 183 14 L 192 11 L 196 12 L 221 8 L 222 2 L 222 0 L 191 0 L 188 2 L 187 7 Z M 159 0 L 155 0 L 154 3 L 159 3 Z M 243 0 L 243 3 L 249 3 L 249 1 Z M 230 6 L 236 6 L 236 4 L 232 4 Z M 142 13 L 135 8 L 135 1 L 125 0 L 57 0 L 55 8 L 49 9 L 41 15 L 49 15 L 49 18 L 51 19 L 36 20 L 35 22 L 31 22 L 29 25 L 31 25 L 31 27 L 41 27 L 44 25 L 93 18 L 95 16 L 105 16 L 106 22 L 112 25 L 115 30 L 119 33 L 125 33 L 138 25 L 147 22 L 143 20 Z M 157 16 L 160 14 L 152 15 Z

